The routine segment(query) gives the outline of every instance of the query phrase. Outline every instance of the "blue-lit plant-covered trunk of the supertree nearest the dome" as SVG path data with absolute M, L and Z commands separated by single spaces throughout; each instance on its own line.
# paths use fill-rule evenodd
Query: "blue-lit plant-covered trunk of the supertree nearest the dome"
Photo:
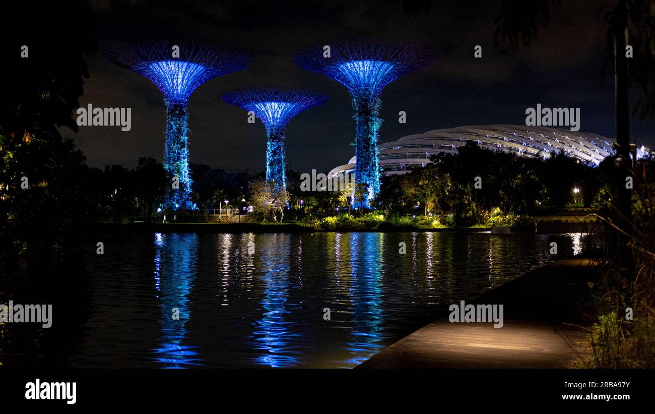
M 371 198 L 380 191 L 380 171 L 377 159 L 377 141 L 382 124 L 379 98 L 353 98 L 355 110 L 356 149 L 355 182 L 367 185 L 369 196 L 362 207 L 370 207 Z

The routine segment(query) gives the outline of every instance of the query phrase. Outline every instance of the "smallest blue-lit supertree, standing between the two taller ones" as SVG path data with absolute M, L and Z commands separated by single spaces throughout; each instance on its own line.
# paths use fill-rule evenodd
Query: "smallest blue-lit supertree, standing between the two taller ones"
M 327 98 L 304 90 L 251 89 L 221 96 L 228 104 L 253 111 L 266 126 L 266 181 L 277 192 L 286 189 L 284 172 L 284 127 L 305 109 L 321 105 Z

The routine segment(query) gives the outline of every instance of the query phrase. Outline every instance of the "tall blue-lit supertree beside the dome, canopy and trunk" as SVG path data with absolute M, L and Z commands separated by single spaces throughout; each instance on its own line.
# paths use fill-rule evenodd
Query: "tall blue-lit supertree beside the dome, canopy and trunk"
M 402 75 L 433 64 L 437 53 L 412 43 L 345 42 L 327 46 L 329 49 L 316 45 L 300 50 L 294 61 L 304 69 L 334 79 L 350 91 L 356 121 L 355 183 L 365 185 L 368 195 L 363 206 L 369 207 L 371 198 L 380 191 L 377 159 L 382 124 L 380 94 L 384 86 Z M 354 202 L 355 197 L 352 199 Z

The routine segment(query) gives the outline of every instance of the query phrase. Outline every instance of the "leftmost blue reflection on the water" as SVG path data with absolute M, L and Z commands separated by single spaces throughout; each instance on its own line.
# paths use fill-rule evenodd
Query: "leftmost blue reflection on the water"
M 155 289 L 162 310 L 161 337 L 155 362 L 164 368 L 203 365 L 196 358 L 194 345 L 184 345 L 185 324 L 191 318 L 189 293 L 196 273 L 198 236 L 195 233 L 155 235 Z M 173 308 L 179 309 L 179 320 L 172 318 Z

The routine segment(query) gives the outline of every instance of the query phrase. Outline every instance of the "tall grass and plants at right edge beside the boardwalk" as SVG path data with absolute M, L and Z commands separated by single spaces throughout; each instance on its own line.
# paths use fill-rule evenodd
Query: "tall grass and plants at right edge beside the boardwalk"
M 589 332 L 591 356 L 584 366 L 655 367 L 655 186 L 645 173 L 635 182 L 628 271 L 618 268 L 617 253 L 610 247 L 620 229 L 608 217 L 599 220 L 605 251 L 597 263 L 601 280 L 590 286 L 597 314 Z

